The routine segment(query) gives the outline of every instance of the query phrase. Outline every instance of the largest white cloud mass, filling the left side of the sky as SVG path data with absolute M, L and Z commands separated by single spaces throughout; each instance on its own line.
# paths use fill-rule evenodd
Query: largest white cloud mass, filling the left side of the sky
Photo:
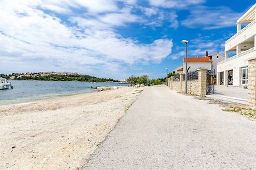
M 132 15 L 129 8 L 115 12 L 117 7 L 110 3 L 114 11 L 95 15 L 100 11 L 93 10 L 90 4 L 84 3 L 83 6 L 90 9 L 94 17 L 70 17 L 77 26 L 68 25 L 39 7 L 71 13 L 67 6 L 74 8 L 82 1 L 49 2 L 35 0 L 17 4 L 13 0 L 0 3 L 0 15 L 8 16 L 0 17 L 0 71 L 4 71 L 3 64 L 7 64 L 10 70 L 19 69 L 23 72 L 51 69 L 95 73 L 97 69 L 98 76 L 106 73 L 109 76 L 117 73 L 123 75 L 126 73 L 122 73 L 125 69 L 121 66 L 138 62 L 161 62 L 172 52 L 172 40 L 157 39 L 145 44 L 123 38 L 114 30 L 108 29 L 136 22 L 138 17 Z M 129 1 L 130 4 L 135 2 Z M 15 62 L 11 62 L 12 60 Z

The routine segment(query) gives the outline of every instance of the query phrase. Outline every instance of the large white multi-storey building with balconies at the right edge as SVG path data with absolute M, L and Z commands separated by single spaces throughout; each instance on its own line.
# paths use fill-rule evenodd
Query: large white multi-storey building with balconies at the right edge
M 237 33 L 225 43 L 225 60 L 217 66 L 218 85 L 247 85 L 248 59 L 256 57 L 256 4 L 237 20 Z M 243 24 L 247 24 L 242 28 Z M 228 53 L 236 55 L 228 58 Z

